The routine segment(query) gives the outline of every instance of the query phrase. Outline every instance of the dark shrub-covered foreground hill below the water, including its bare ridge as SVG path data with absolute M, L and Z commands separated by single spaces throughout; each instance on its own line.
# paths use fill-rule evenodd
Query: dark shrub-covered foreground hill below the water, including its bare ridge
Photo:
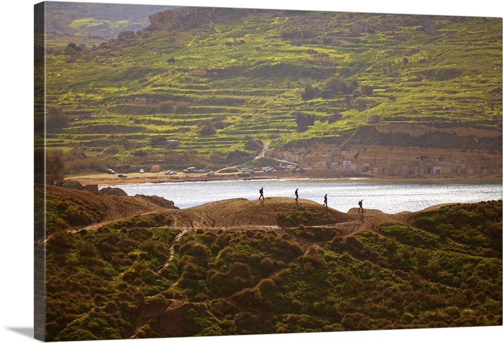
M 304 199 L 177 210 L 47 195 L 60 226 L 35 243 L 35 330 L 48 341 L 502 324 L 501 200 L 361 215 Z

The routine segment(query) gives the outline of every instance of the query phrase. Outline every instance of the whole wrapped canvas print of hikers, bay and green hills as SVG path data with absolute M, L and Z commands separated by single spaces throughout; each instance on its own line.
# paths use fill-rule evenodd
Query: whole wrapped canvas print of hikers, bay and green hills
M 501 18 L 34 14 L 35 338 L 502 325 Z

